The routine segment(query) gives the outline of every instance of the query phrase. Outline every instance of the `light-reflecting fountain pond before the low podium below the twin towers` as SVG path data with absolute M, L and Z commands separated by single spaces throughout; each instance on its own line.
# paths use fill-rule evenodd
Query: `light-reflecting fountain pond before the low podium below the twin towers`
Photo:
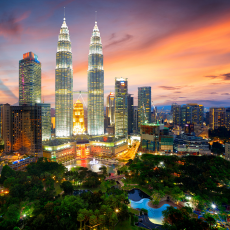
M 106 166 L 108 173 L 115 173 L 114 171 L 115 165 L 109 165 L 105 161 L 101 161 L 101 160 L 97 160 L 97 164 L 90 164 L 91 161 L 92 159 L 72 160 L 64 165 L 66 168 L 68 168 L 68 170 L 70 170 L 73 167 L 78 166 L 78 167 L 86 167 L 92 170 L 93 172 L 100 172 L 99 168 L 102 166 Z

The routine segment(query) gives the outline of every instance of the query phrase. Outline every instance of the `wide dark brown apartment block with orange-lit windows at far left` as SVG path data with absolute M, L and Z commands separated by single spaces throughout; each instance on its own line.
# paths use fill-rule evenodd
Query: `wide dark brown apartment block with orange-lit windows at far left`
M 3 105 L 3 140 L 6 153 L 42 156 L 42 108 Z

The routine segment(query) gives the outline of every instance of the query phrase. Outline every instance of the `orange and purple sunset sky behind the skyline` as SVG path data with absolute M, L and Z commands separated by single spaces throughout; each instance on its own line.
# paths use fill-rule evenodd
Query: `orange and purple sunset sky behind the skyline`
M 229 0 L 1 0 L 0 103 L 18 102 L 18 62 L 32 51 L 42 64 L 42 100 L 54 107 L 64 7 L 75 91 L 87 90 L 97 11 L 105 96 L 114 92 L 115 77 L 124 77 L 135 104 L 137 87 L 151 86 L 157 106 L 193 102 L 230 107 Z

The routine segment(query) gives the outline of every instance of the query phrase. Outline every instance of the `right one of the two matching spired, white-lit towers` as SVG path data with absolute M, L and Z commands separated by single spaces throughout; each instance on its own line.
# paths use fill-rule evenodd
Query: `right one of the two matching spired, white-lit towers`
M 97 22 L 93 28 L 88 55 L 88 133 L 104 134 L 104 69 Z

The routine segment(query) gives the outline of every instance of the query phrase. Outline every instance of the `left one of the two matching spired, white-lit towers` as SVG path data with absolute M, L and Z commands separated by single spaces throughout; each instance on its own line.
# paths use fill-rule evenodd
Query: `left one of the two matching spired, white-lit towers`
M 69 29 L 63 20 L 58 37 L 55 70 L 55 134 L 68 137 L 73 133 L 73 68 Z

